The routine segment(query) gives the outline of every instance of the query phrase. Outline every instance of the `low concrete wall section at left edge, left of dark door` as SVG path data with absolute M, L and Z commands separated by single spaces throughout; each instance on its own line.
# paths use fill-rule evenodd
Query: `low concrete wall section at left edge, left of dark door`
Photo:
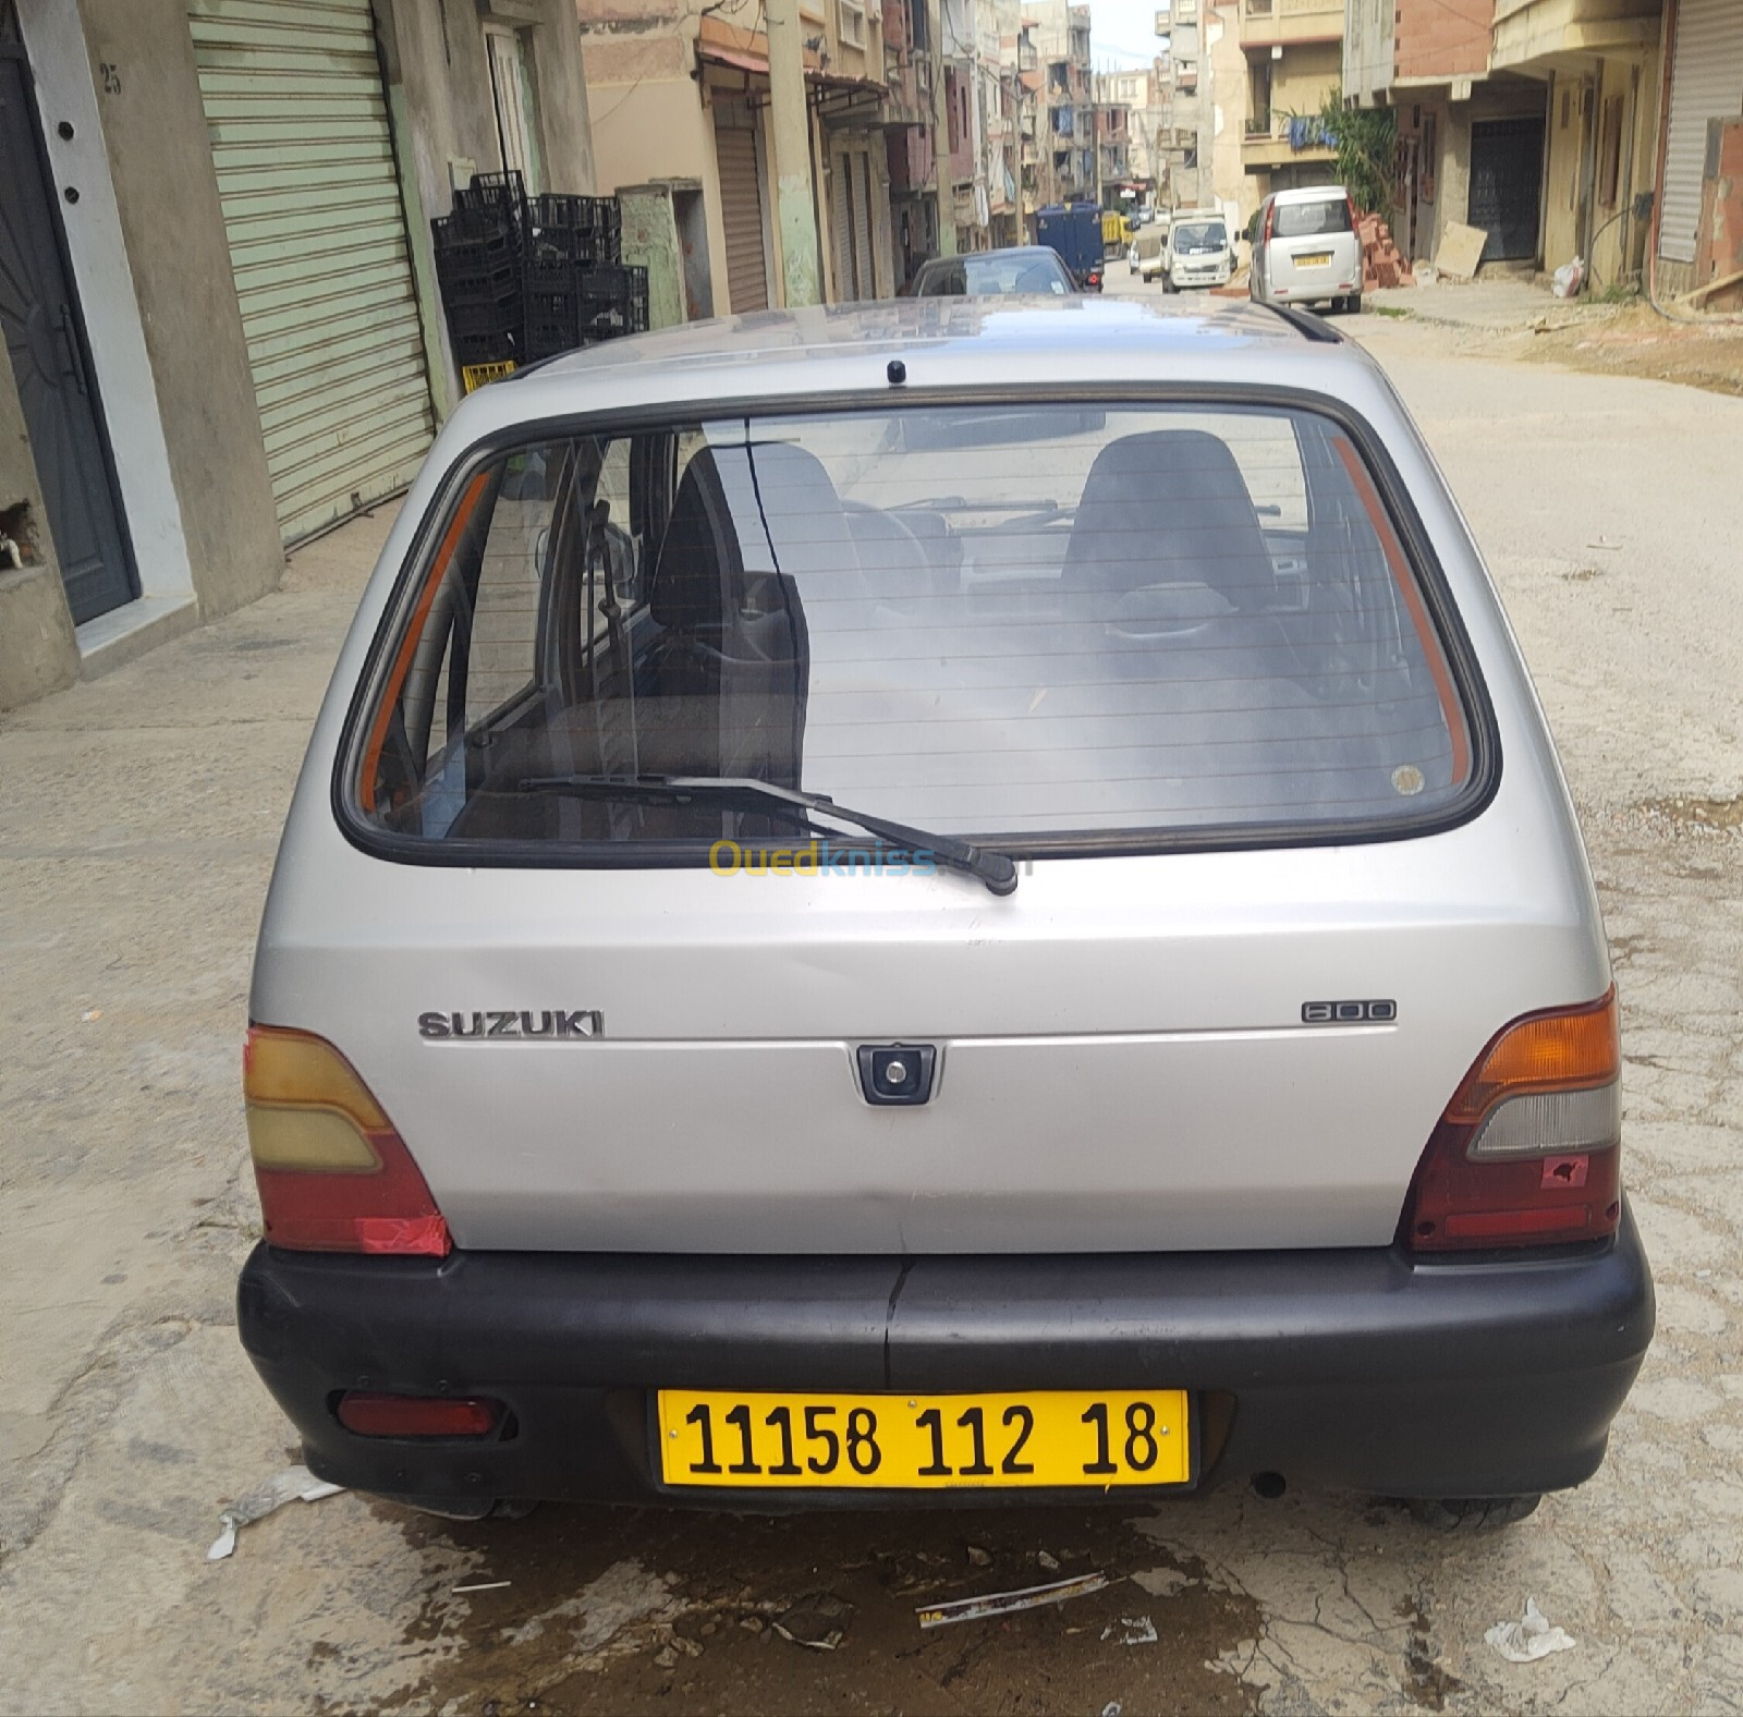
M 73 617 L 61 589 L 54 537 L 42 507 L 37 464 L 24 434 L 12 366 L 0 357 L 0 530 L 24 567 L 0 558 L 0 709 L 71 685 L 78 676 Z

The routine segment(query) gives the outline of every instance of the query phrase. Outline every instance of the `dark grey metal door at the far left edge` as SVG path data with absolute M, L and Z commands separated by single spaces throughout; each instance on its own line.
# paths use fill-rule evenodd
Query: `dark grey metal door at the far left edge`
M 139 587 L 38 138 L 24 49 L 0 14 L 0 329 L 66 603 L 84 624 Z

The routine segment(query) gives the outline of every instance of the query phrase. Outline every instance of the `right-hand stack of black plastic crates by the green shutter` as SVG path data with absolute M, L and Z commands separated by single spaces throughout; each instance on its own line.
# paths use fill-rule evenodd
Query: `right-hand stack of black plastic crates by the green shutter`
M 530 218 L 528 359 L 647 329 L 648 275 L 621 261 L 615 199 L 537 197 Z

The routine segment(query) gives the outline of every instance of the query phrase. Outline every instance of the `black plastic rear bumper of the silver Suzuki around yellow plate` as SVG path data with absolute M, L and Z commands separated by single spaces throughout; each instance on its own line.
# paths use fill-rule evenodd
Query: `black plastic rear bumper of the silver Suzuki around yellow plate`
M 1652 1337 L 1631 1217 L 1576 1255 L 1419 1264 L 1394 1250 L 732 1259 L 256 1246 L 242 1344 L 309 1466 L 363 1490 L 774 1508 L 877 1494 L 668 1490 L 659 1388 L 1194 1391 L 1201 1476 L 1276 1471 L 1387 1496 L 1576 1485 Z M 345 1389 L 490 1395 L 509 1435 L 356 1436 Z M 1075 1494 L 1081 1499 L 1081 1494 Z M 1121 1492 L 1129 1501 L 1143 1492 Z M 927 1508 L 1034 1501 L 931 1492 Z

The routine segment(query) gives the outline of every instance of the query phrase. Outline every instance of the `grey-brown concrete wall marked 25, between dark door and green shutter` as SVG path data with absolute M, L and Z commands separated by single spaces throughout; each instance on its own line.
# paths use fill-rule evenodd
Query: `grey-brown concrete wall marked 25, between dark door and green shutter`
M 188 568 L 200 612 L 225 614 L 277 586 L 284 553 L 187 5 L 78 0 L 78 10 L 92 73 L 110 68 L 98 77 L 103 143 Z M 106 404 L 119 441 L 112 390 Z

